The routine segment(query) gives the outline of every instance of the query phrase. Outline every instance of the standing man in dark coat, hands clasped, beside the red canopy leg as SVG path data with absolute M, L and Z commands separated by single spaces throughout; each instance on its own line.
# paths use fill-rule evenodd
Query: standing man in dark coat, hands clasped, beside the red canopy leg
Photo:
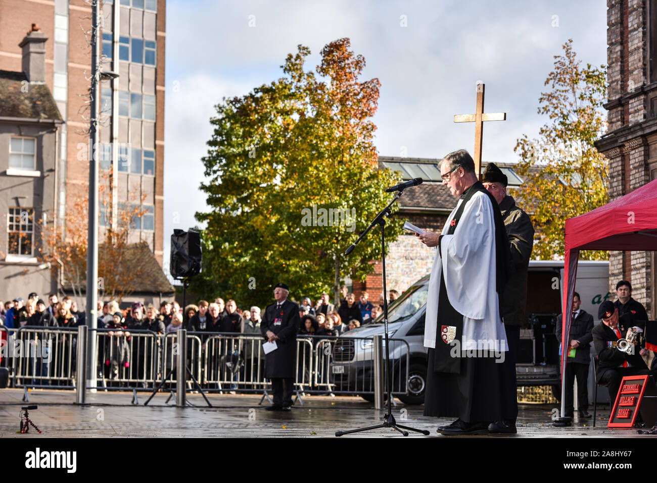
M 593 316 L 579 308 L 579 293 L 573 294 L 573 312 L 570 325 L 570 342 L 566 345 L 566 412 L 564 416 L 573 417 L 573 384 L 577 378 L 577 397 L 579 414 L 591 417 L 589 409 L 589 366 L 591 365 L 591 341 L 593 341 Z M 561 343 L 563 314 L 556 321 L 556 340 Z

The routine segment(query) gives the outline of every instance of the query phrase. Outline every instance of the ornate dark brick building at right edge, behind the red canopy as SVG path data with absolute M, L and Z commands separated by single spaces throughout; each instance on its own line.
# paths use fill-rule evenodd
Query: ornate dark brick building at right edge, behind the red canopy
M 615 200 L 657 178 L 657 0 L 608 0 L 607 7 L 609 125 L 596 147 L 609 160 Z M 652 319 L 654 266 L 654 252 L 610 252 L 610 291 L 629 280 Z

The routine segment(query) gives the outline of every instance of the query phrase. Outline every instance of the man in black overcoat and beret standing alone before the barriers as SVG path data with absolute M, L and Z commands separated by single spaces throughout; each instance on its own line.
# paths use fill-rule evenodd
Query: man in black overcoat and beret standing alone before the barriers
M 290 411 L 296 366 L 296 333 L 299 331 L 299 306 L 287 299 L 286 284 L 274 287 L 275 304 L 265 308 L 260 331 L 277 348 L 265 355 L 265 377 L 271 379 L 274 404 L 267 411 Z

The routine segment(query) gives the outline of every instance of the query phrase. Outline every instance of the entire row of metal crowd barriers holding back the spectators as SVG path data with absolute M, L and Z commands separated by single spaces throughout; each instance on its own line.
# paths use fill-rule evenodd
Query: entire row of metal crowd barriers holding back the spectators
M 97 386 L 101 390 L 153 390 L 164 377 L 172 389 L 177 382 L 175 332 L 89 329 L 96 338 Z M 13 387 L 74 389 L 76 385 L 77 327 L 0 326 L 5 352 L 20 347 L 18 356 L 0 352 L 0 366 L 10 368 Z M 264 392 L 263 339 L 257 334 L 187 332 L 187 368 L 209 392 Z M 374 398 L 380 387 L 377 373 L 386 381 L 386 364 L 376 364 L 373 337 L 298 336 L 294 389 L 309 394 L 358 394 Z M 28 348 L 26 350 L 25 348 Z M 383 342 L 385 349 L 385 342 Z M 392 394 L 407 393 L 409 345 L 390 339 Z M 380 363 L 379 363 L 380 364 Z M 11 371 L 13 369 L 13 371 Z M 187 389 L 192 389 L 187 377 Z

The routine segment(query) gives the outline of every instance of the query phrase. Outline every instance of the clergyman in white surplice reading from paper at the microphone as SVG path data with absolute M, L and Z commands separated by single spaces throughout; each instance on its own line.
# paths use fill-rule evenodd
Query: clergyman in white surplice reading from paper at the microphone
M 497 201 L 477 180 L 470 154 L 448 154 L 440 174 L 459 203 L 442 234 L 418 234 L 428 247 L 438 247 L 424 326 L 424 415 L 458 417 L 438 428 L 445 435 L 487 434 L 489 423 L 502 419 L 505 400 L 500 298 L 509 245 Z

